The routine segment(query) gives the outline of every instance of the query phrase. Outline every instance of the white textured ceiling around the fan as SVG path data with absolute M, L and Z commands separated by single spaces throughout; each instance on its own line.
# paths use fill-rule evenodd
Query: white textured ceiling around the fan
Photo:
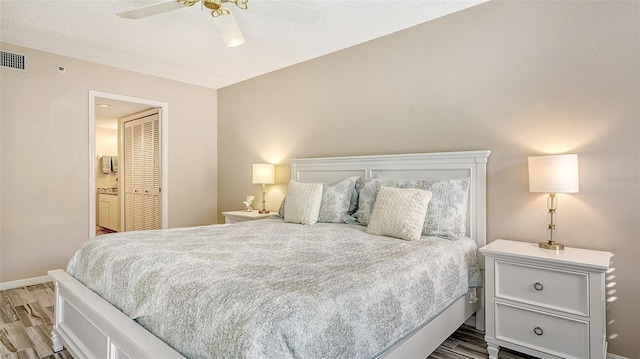
M 116 12 L 160 1 L 0 0 L 0 40 L 218 89 L 484 1 L 287 0 L 319 10 L 311 25 L 226 4 L 246 39 L 227 48 L 199 5 L 129 20 Z

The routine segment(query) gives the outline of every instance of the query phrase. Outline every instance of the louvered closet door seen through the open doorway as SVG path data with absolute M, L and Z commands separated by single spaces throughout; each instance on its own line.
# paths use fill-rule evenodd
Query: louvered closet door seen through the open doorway
M 125 231 L 159 229 L 160 120 L 158 114 L 124 124 Z

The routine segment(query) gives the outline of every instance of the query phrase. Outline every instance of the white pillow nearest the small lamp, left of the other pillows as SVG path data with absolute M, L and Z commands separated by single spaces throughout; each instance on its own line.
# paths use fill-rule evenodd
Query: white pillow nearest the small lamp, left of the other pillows
M 315 224 L 322 203 L 322 183 L 291 181 L 285 198 L 284 221 L 289 223 Z

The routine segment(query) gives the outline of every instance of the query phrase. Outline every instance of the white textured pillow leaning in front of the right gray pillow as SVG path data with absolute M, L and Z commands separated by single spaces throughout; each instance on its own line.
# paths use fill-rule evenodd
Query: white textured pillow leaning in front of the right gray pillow
M 431 192 L 417 188 L 380 187 L 367 233 L 419 239 L 431 196 Z

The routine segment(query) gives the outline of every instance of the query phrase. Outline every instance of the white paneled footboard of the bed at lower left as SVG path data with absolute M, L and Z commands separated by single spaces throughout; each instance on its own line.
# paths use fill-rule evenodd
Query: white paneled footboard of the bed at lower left
M 184 358 L 63 270 L 56 287 L 53 350 L 74 358 Z

